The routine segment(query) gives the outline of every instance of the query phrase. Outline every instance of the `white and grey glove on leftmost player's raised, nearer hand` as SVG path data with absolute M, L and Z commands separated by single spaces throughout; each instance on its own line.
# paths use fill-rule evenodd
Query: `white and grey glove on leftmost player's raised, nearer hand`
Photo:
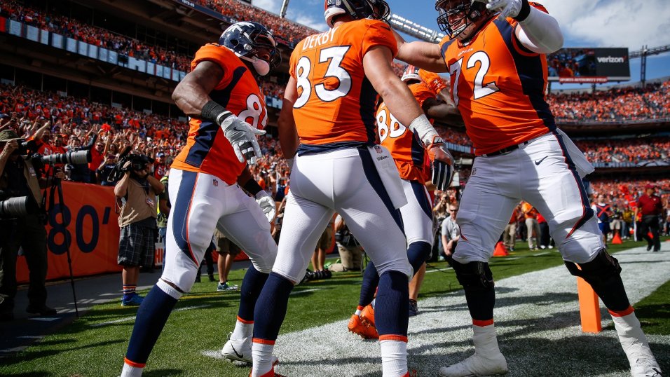
M 255 165 L 256 160 L 261 158 L 261 147 L 258 145 L 256 136 L 265 135 L 264 130 L 253 128 L 249 123 L 234 115 L 221 121 L 221 130 L 224 130 L 224 136 L 228 142 L 231 142 L 235 156 L 238 156 L 240 163 L 247 160 L 249 165 Z

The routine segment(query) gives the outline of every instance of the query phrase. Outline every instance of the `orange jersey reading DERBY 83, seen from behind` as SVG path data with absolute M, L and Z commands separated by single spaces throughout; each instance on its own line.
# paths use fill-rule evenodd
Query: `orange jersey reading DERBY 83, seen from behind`
M 357 20 L 308 36 L 293 50 L 289 74 L 298 86 L 293 114 L 299 153 L 374 142 L 377 93 L 365 77 L 363 56 L 375 46 L 397 54 L 388 25 Z

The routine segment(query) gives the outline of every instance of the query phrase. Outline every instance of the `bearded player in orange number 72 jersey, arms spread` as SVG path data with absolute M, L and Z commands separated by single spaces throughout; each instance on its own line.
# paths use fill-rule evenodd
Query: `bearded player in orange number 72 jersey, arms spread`
M 461 240 L 453 254 L 472 316 L 474 355 L 443 367 L 440 375 L 507 371 L 493 326 L 488 259 L 523 199 L 547 219 L 570 273 L 589 282 L 610 310 L 632 376 L 660 376 L 619 263 L 607 253 L 589 207 L 581 178 L 594 168 L 556 128 L 545 102 L 545 54 L 563 44 L 558 22 L 528 0 L 437 0 L 436 8 L 449 36 L 438 44 L 405 43 L 397 36 L 397 58 L 451 74 L 451 95 L 477 156 L 461 198 Z

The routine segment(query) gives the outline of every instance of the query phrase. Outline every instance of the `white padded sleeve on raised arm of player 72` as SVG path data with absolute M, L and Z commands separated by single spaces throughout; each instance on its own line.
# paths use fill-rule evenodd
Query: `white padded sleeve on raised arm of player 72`
M 559 22 L 548 13 L 531 6 L 528 18 L 519 22 L 517 38 L 534 53 L 549 54 L 563 47 L 563 33 Z

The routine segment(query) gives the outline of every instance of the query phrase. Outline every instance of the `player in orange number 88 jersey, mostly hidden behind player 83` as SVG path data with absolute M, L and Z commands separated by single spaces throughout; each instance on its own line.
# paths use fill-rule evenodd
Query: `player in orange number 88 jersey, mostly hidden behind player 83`
M 429 118 L 442 120 L 448 116 L 458 115 L 456 107 L 437 100 L 435 86 L 444 85 L 442 78 L 432 75 L 430 77 L 434 84 L 433 88 L 423 81 L 418 68 L 409 65 L 400 79 L 407 84 L 419 107 Z M 437 89 L 442 88 L 446 88 L 446 85 Z M 402 188 L 407 198 L 407 204 L 400 208 L 400 213 L 408 245 L 407 258 L 414 270 L 414 277 L 409 287 L 409 315 L 412 316 L 416 315 L 416 299 L 425 274 L 425 260 L 430 256 L 435 240 L 432 230 L 432 203 L 425 187 L 425 182 L 428 180 L 428 174 L 424 170 L 426 153 L 416 133 L 399 123 L 383 102 L 377 108 L 376 121 L 380 144 L 389 149 L 400 173 Z M 374 326 L 373 301 L 378 282 L 379 275 L 374 263 L 370 262 L 364 271 L 357 313 L 351 316 L 348 323 L 349 331 L 363 338 L 378 337 Z

